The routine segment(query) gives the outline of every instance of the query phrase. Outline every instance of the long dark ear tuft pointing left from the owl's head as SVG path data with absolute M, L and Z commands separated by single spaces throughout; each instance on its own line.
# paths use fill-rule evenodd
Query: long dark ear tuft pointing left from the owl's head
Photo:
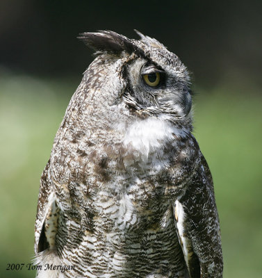
M 135 52 L 138 55 L 142 53 L 142 49 L 132 40 L 113 31 L 81 33 L 78 38 L 95 51 L 106 51 L 114 54 L 119 54 L 122 51 L 126 51 L 129 54 Z

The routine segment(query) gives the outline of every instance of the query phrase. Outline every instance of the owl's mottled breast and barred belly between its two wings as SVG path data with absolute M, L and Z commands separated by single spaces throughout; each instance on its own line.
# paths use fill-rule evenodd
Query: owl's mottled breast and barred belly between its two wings
M 133 269 L 145 277 L 183 274 L 172 204 L 193 174 L 196 151 L 191 138 L 176 137 L 170 126 L 161 131 L 140 131 L 138 139 L 127 130 L 122 139 L 98 144 L 89 138 L 88 147 L 76 145 L 59 156 L 65 167 L 59 172 L 56 164 L 53 173 L 60 173 L 56 193 L 68 238 L 63 250 L 72 249 L 77 230 L 78 256 L 97 277 L 108 270 L 134 277 Z M 90 258 L 98 254 L 101 265 L 93 269 Z

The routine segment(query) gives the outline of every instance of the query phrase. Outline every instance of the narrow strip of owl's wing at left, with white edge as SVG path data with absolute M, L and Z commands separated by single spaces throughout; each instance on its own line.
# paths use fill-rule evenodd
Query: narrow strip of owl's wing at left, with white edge
M 35 220 L 35 255 L 44 250 L 55 249 L 59 210 L 49 175 L 48 161 L 40 180 L 38 211 Z

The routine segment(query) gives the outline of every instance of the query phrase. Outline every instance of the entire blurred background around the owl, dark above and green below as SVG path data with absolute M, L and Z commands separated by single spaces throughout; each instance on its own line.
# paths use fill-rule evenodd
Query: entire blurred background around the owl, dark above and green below
M 152 1 L 135 10 L 127 3 L 100 10 L 96 3 L 76 3 L 1 1 L 1 277 L 35 275 L 6 267 L 33 258 L 40 174 L 92 60 L 75 37 L 99 28 L 131 38 L 138 28 L 194 72 L 194 135 L 215 183 L 224 277 L 261 277 L 261 2 L 163 1 L 159 7 Z

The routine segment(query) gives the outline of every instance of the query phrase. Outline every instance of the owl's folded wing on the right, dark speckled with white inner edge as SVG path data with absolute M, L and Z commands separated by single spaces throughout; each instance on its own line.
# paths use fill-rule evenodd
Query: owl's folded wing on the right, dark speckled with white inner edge
M 186 189 L 174 203 L 179 243 L 191 278 L 222 277 L 223 261 L 213 180 L 204 156 Z

